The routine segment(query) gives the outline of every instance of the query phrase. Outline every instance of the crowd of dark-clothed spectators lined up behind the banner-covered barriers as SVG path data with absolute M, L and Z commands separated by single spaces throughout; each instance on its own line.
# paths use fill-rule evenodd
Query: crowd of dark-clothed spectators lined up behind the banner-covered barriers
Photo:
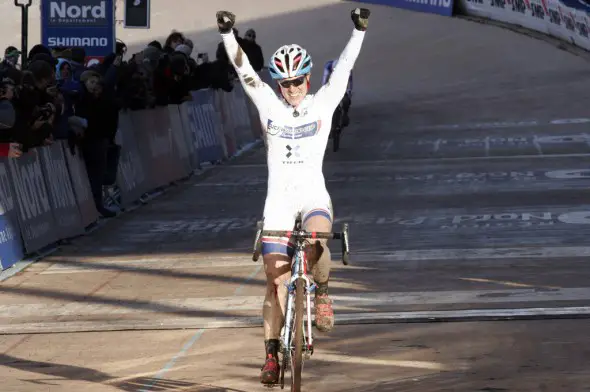
M 255 32 L 250 29 L 238 40 L 261 70 Z M 192 90 L 233 89 L 235 72 L 223 45 L 214 61 L 194 49 L 190 39 L 173 31 L 164 45 L 152 41 L 127 61 L 127 46 L 118 41 L 114 53 L 88 66 L 84 48 L 35 45 L 26 64 L 19 65 L 21 52 L 8 47 L 0 63 L 0 157 L 18 159 L 33 148 L 67 140 L 70 151 L 84 160 L 97 210 L 114 216 L 104 206 L 103 187 L 116 178 L 107 171 L 117 167 L 112 160 L 118 160 L 120 149 L 115 143 L 119 112 L 180 104 L 192 99 Z

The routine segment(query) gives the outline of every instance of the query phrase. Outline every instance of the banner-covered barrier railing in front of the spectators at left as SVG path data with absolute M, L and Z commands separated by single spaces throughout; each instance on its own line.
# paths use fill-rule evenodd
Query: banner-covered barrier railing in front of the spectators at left
M 120 113 L 117 186 L 123 207 L 260 137 L 256 108 L 238 82 L 230 93 L 206 89 L 192 97 L 182 105 Z M 0 159 L 0 270 L 84 234 L 98 218 L 76 151 L 58 141 L 18 159 Z

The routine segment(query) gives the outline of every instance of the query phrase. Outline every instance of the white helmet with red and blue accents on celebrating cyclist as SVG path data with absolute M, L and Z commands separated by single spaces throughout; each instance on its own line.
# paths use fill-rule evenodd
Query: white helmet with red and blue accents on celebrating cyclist
M 286 79 L 309 73 L 313 63 L 311 56 L 299 45 L 281 46 L 272 55 L 268 70 L 273 79 Z

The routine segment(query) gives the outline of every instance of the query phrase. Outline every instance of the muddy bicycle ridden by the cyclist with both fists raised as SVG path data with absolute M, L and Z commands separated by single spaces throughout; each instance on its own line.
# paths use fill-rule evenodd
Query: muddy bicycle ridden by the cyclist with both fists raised
M 253 261 L 258 261 L 262 253 L 262 237 L 287 237 L 295 240 L 295 252 L 291 264 L 291 278 L 287 283 L 287 306 L 285 324 L 280 335 L 282 366 L 280 374 L 281 389 L 285 388 L 285 368 L 291 365 L 291 392 L 301 390 L 301 371 L 303 361 L 313 354 L 313 334 L 311 319 L 311 293 L 317 287 L 313 278 L 307 274 L 307 257 L 305 245 L 308 239 L 339 239 L 342 246 L 342 262 L 349 263 L 348 223 L 342 226 L 340 233 L 308 232 L 301 226 L 301 214 L 295 220 L 292 231 L 264 230 L 263 220 L 257 222 L 256 239 L 254 241 Z M 304 312 L 305 305 L 305 312 Z M 307 322 L 305 322 L 304 313 Z M 304 355 L 305 354 L 305 355 Z

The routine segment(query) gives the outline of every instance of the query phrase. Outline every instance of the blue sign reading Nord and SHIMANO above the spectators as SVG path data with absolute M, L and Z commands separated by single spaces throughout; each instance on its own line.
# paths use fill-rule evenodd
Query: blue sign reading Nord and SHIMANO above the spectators
M 49 48 L 82 47 L 87 58 L 113 53 L 114 0 L 42 0 L 41 42 Z

